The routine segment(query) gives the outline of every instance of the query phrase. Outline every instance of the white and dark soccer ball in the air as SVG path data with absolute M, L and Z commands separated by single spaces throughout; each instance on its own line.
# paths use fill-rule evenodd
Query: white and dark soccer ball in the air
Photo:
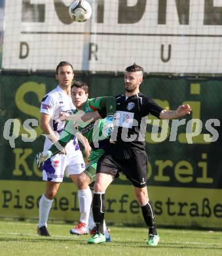
M 69 5 L 69 15 L 76 22 L 85 22 L 91 14 L 92 8 L 86 0 L 75 0 Z

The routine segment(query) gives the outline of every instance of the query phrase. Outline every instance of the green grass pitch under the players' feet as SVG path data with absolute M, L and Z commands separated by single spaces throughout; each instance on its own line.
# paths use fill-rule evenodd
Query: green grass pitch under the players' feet
M 222 255 L 222 232 L 159 228 L 158 247 L 147 247 L 146 228 L 110 226 L 112 242 L 88 245 L 89 236 L 71 236 L 70 224 L 48 224 L 49 238 L 36 223 L 0 221 L 0 255 Z

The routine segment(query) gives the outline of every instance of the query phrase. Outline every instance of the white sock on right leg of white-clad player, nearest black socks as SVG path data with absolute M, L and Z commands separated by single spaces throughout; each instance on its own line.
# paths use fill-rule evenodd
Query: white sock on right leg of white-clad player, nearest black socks
M 92 193 L 90 188 L 78 190 L 78 198 L 79 198 L 79 211 L 81 213 L 81 217 L 79 221 L 88 225 L 90 207 L 92 203 Z

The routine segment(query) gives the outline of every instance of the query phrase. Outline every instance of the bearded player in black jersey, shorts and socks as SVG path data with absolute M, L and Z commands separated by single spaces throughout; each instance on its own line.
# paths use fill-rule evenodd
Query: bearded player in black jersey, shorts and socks
M 147 244 L 156 246 L 159 241 L 154 222 L 154 213 L 147 193 L 147 154 L 145 152 L 145 132 L 147 115 L 160 119 L 174 119 L 190 114 L 189 105 L 181 105 L 177 110 L 164 110 L 151 98 L 139 93 L 143 81 L 143 68 L 134 64 L 126 68 L 124 74 L 125 95 L 117 96 L 117 110 L 113 134 L 109 147 L 98 161 L 94 184 L 93 214 L 97 233 L 88 240 L 89 244 L 105 242 L 103 219 L 105 214 L 105 190 L 122 171 L 132 182 L 134 192 L 141 206 L 143 218 L 149 228 Z

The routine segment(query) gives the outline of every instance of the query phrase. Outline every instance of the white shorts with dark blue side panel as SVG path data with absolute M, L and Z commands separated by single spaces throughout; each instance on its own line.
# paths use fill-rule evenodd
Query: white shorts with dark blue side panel
M 64 173 L 77 175 L 83 173 L 85 169 L 83 154 L 79 150 L 77 154 L 56 154 L 46 160 L 43 164 L 43 181 L 62 182 Z

